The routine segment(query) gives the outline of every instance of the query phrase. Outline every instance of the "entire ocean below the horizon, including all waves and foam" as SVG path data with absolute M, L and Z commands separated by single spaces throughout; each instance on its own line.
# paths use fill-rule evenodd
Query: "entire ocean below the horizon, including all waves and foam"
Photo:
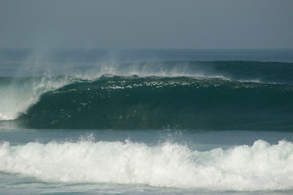
M 0 194 L 293 194 L 293 49 L 0 49 Z

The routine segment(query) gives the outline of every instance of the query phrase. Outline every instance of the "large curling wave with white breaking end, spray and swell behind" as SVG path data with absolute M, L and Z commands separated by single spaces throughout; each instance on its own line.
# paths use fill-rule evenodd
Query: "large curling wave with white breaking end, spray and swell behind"
M 75 67 L 67 76 L 1 78 L 0 87 L 0 122 L 27 128 L 292 131 L 293 127 L 289 63 Z

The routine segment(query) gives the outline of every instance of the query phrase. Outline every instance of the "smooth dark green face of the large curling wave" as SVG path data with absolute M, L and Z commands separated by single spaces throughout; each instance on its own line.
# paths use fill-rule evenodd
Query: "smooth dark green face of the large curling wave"
M 46 92 L 28 128 L 292 130 L 291 85 L 221 78 L 102 77 Z

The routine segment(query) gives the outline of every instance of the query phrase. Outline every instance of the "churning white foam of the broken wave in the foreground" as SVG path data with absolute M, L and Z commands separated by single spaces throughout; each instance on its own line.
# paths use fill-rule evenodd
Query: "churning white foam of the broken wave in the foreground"
M 112 182 L 208 190 L 293 189 L 293 143 L 258 140 L 198 152 L 178 144 L 50 142 L 0 144 L 0 171 L 53 182 Z

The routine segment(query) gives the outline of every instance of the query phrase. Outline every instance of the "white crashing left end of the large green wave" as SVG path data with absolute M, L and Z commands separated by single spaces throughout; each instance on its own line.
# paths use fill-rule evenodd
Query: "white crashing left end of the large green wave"
M 36 104 L 42 94 L 59 89 L 68 83 L 68 77 L 11 78 L 9 82 L 0 85 L 0 120 L 18 118 Z

